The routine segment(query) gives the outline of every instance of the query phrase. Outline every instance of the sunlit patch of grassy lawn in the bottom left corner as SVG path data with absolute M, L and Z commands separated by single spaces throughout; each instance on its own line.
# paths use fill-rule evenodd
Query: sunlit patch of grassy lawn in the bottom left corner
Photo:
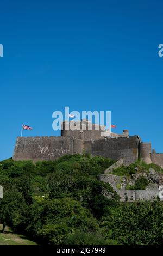
M 0 230 L 2 225 L 0 224 Z M 5 227 L 4 234 L 0 233 L 0 245 L 37 245 L 30 241 L 24 235 L 14 234 L 9 227 Z

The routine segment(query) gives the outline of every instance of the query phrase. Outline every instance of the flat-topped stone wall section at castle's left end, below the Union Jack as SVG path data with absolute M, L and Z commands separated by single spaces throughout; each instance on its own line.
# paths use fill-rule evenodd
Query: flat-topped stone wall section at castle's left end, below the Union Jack
M 14 160 L 54 160 L 73 154 L 73 139 L 66 137 L 18 137 L 14 149 Z

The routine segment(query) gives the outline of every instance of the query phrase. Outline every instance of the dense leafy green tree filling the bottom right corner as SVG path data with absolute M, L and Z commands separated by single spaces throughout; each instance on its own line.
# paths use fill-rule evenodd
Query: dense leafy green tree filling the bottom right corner
M 161 202 L 122 203 L 103 217 L 106 232 L 123 245 L 160 245 L 163 243 L 163 205 Z

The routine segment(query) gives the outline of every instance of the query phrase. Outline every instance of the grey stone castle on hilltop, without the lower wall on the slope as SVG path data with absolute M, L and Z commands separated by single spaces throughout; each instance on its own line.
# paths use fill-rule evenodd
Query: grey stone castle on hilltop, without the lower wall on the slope
M 68 129 L 73 125 L 74 129 Z M 163 168 L 163 154 L 151 151 L 151 143 L 144 143 L 137 135 L 129 136 L 128 130 L 123 133 L 108 133 L 104 126 L 91 124 L 87 119 L 82 121 L 64 121 L 61 136 L 17 137 L 14 149 L 14 160 L 55 160 L 66 154 L 90 153 L 110 159 L 124 159 L 124 165 L 135 162 L 140 156 L 146 163 L 155 163 Z M 76 127 L 80 126 L 80 130 Z M 85 127 L 85 129 L 83 129 Z

